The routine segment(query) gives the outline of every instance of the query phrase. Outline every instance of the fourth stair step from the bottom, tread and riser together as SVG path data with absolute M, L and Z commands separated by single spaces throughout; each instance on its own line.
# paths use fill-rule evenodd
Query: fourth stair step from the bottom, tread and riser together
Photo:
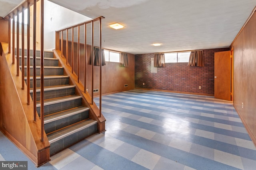
M 47 86 L 44 87 L 44 100 L 51 98 L 59 98 L 64 96 L 70 96 L 75 94 L 76 86 L 73 85 L 60 85 L 60 86 Z M 33 99 L 33 89 L 30 89 L 30 96 Z M 36 89 L 36 101 L 40 100 L 41 89 Z

